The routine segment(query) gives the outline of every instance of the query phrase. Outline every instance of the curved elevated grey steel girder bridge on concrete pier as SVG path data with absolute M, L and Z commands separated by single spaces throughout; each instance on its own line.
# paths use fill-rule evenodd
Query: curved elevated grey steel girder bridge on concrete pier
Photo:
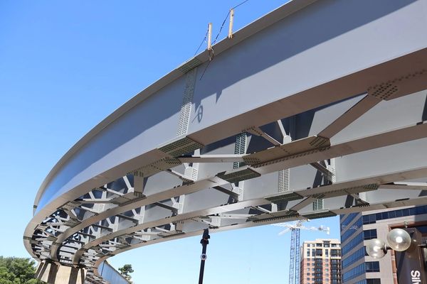
M 107 283 L 107 258 L 206 228 L 426 204 L 426 27 L 427 0 L 294 0 L 177 67 L 44 180 L 23 237 L 40 277 Z

